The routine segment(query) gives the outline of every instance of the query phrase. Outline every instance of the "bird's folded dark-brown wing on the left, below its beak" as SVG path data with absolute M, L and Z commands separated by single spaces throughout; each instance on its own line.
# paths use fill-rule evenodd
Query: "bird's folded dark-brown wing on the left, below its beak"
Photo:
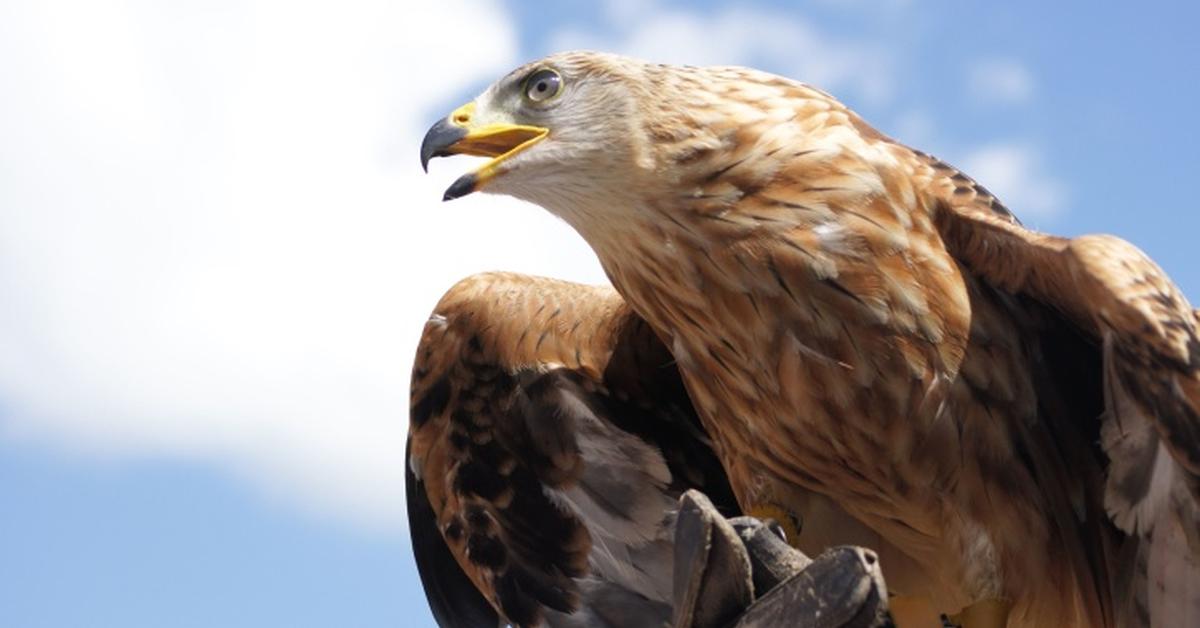
M 678 496 L 736 512 L 698 425 L 671 354 L 611 288 L 508 274 L 451 288 L 418 349 L 408 445 L 438 622 L 666 622 Z

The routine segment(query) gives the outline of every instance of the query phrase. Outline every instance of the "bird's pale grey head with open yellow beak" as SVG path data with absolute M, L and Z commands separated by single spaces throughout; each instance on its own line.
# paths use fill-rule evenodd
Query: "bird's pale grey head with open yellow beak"
M 563 53 L 524 65 L 430 128 L 421 165 L 444 155 L 492 157 L 451 185 L 445 199 L 504 193 L 548 209 L 629 185 L 649 102 L 646 64 Z

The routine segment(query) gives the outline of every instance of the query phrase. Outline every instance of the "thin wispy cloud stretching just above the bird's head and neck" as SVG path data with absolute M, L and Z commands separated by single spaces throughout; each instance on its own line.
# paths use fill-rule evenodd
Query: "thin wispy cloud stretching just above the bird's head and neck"
M 601 49 L 642 59 L 690 65 L 749 65 L 774 68 L 841 97 L 884 102 L 892 96 L 889 55 L 870 42 L 842 41 L 781 11 L 733 7 L 706 14 L 640 5 L 636 17 L 625 0 L 607 5 L 614 35 L 568 29 L 551 48 Z

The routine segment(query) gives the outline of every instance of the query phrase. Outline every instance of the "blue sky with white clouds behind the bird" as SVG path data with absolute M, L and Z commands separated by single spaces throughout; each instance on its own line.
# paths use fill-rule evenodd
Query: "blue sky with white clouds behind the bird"
M 416 146 L 556 49 L 814 82 L 1200 301 L 1193 4 L 401 5 L 0 6 L 0 626 L 430 623 L 420 325 L 469 273 L 601 276 Z

